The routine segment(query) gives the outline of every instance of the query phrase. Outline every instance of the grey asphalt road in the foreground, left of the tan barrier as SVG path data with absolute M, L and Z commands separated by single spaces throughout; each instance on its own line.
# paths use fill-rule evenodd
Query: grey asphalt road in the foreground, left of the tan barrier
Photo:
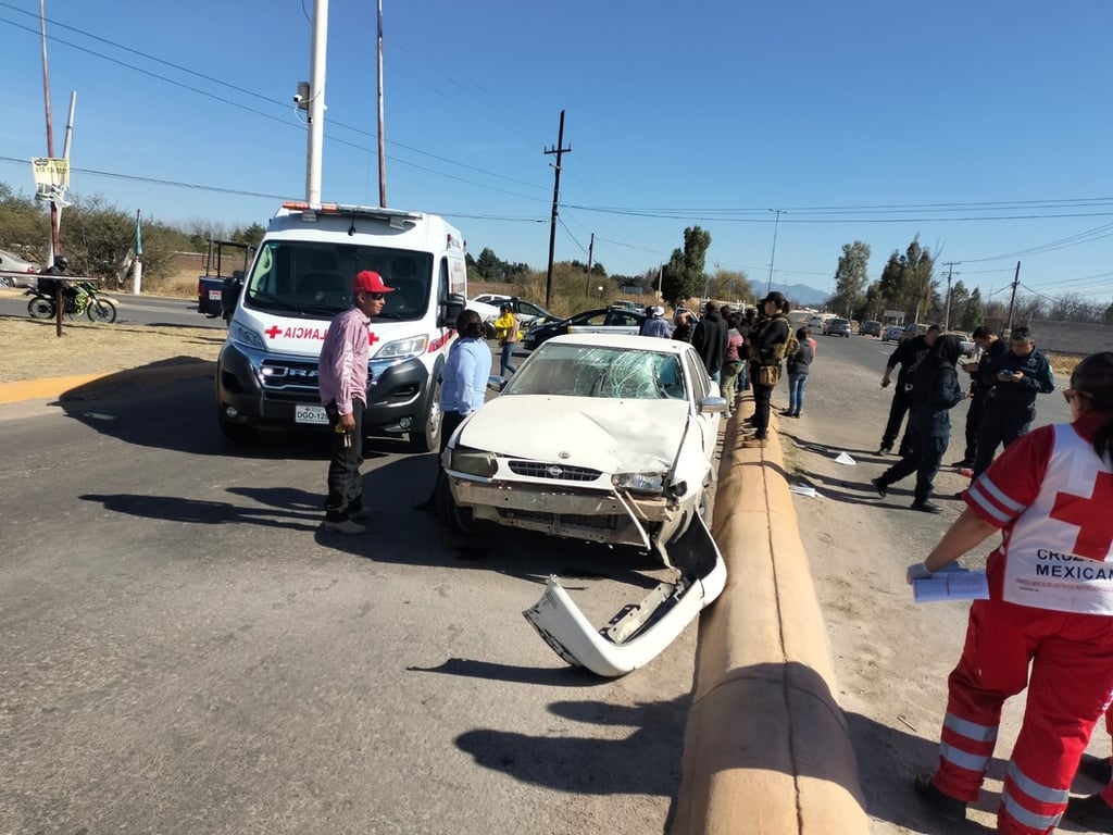
M 319 440 L 232 449 L 210 391 L 0 407 L 0 832 L 662 831 L 695 629 L 601 681 L 520 613 L 555 571 L 603 622 L 651 566 L 450 534 L 385 441 L 373 533 L 324 534 Z

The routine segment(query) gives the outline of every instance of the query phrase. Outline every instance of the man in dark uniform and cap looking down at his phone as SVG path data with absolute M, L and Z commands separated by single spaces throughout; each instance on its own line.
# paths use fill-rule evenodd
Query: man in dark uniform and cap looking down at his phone
M 1008 446 L 1027 434 L 1036 416 L 1036 394 L 1055 391 L 1051 363 L 1036 351 L 1036 341 L 1026 327 L 1013 331 L 1008 337 L 1008 351 L 1002 352 L 993 367 L 994 386 L 977 433 L 975 479 L 993 463 L 997 444 Z

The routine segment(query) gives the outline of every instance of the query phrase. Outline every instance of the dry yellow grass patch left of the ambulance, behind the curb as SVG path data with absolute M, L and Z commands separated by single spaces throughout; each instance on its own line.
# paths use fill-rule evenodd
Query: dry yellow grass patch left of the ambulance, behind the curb
M 225 332 L 170 325 L 100 325 L 0 317 L 0 382 L 124 371 L 167 362 L 216 361 Z

